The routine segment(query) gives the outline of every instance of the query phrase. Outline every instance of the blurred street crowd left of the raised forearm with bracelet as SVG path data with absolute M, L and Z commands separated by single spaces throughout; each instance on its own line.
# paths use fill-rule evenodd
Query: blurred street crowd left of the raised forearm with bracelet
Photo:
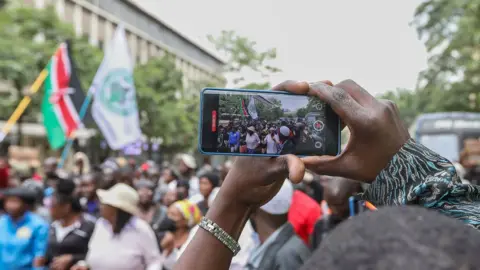
M 39 177 L 1 159 L 0 269 L 172 269 L 226 169 L 187 154 L 165 166 L 74 160 L 66 171 L 47 158 Z

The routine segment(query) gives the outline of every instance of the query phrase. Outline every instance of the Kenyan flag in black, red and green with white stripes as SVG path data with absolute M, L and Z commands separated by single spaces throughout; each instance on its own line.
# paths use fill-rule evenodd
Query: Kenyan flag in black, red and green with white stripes
M 75 74 L 75 65 L 69 52 L 68 43 L 60 44 L 47 65 L 42 115 L 52 149 L 62 147 L 67 138 L 82 124 L 78 112 L 85 94 Z

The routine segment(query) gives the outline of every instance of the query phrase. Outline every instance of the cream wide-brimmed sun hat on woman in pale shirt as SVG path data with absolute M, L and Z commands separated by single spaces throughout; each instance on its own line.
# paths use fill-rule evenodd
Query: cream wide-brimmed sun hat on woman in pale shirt
M 116 207 L 132 215 L 138 212 L 138 193 L 129 185 L 119 183 L 108 190 L 99 189 L 97 196 L 102 204 Z

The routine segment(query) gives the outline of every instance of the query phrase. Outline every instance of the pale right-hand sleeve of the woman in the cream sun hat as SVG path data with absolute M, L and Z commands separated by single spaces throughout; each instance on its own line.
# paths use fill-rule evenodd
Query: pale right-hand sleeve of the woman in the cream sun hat
M 142 226 L 142 249 L 143 249 L 143 256 L 144 261 L 146 264 L 146 270 L 158 270 L 162 269 L 163 264 L 163 257 L 160 255 L 160 250 L 158 248 L 157 237 L 153 232 L 153 229 L 145 223 Z

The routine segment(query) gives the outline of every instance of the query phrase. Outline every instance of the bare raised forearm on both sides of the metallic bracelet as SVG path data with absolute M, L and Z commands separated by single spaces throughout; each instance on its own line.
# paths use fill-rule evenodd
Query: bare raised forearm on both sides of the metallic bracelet
M 206 217 L 218 224 L 226 233 L 238 240 L 250 209 L 233 202 L 231 195 L 220 190 L 215 204 Z M 204 229 L 198 229 L 185 252 L 175 264 L 175 270 L 227 270 L 233 253 L 222 242 Z

